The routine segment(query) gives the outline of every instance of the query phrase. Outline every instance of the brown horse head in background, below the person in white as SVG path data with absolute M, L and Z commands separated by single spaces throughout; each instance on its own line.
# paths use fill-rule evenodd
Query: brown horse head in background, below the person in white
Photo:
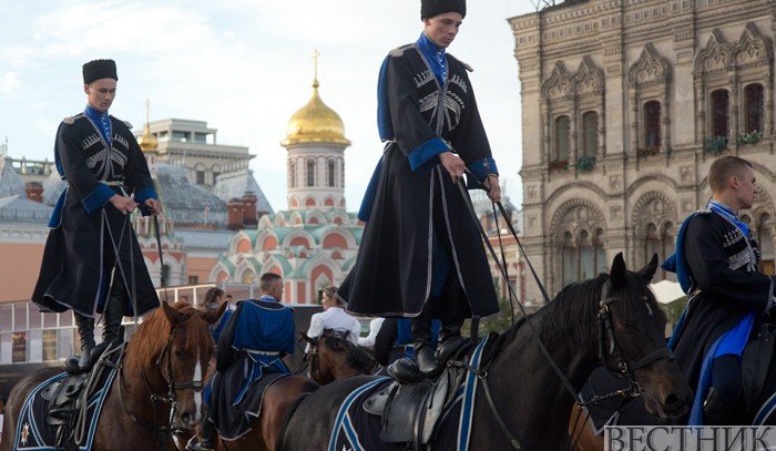
M 338 337 L 330 329 L 315 338 L 302 332 L 302 338 L 310 345 L 308 376 L 321 386 L 354 376 L 374 375 L 378 368 L 366 349 Z

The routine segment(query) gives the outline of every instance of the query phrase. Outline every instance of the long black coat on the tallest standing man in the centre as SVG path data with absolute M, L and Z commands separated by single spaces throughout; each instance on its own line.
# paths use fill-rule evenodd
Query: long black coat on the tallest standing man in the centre
M 419 315 L 431 289 L 433 234 L 450 247 L 469 314 L 499 312 L 477 225 L 436 156 L 452 148 L 472 171 L 482 173 L 487 161 L 496 172 L 467 69 L 448 54 L 440 86 L 416 44 L 382 64 L 378 123 L 389 144 L 366 195 L 370 215 L 356 264 L 338 291 L 354 314 Z

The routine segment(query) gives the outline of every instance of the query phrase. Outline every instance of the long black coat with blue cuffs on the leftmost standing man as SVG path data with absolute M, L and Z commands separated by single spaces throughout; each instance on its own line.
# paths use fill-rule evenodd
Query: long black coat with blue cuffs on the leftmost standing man
M 32 301 L 44 310 L 73 309 L 90 317 L 102 312 L 114 266 L 115 277 L 124 278 L 127 291 L 124 316 L 143 315 L 160 305 L 130 216 L 106 202 L 122 189 L 134 194 L 139 203 L 156 194 L 134 135 L 113 116 L 111 125 L 110 146 L 83 114 L 65 119 L 57 131 L 57 168 L 68 188 L 49 223 L 51 230 L 32 294 Z

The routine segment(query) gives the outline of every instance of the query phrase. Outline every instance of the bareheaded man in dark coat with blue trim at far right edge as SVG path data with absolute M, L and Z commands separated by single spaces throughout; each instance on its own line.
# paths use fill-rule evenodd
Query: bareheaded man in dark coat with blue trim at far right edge
M 676 253 L 663 265 L 677 274 L 690 299 L 668 342 L 695 387 L 690 424 L 727 424 L 742 392 L 742 352 L 776 293 L 774 277 L 757 270 L 757 243 L 738 218 L 757 195 L 752 163 L 716 160 L 708 185 L 708 206 L 685 219 Z

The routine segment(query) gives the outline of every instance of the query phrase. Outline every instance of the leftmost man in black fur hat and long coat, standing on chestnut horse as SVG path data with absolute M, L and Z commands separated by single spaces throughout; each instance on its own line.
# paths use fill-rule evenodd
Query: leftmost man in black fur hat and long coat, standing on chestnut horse
M 54 161 L 68 187 L 49 221 L 32 294 L 43 311 L 74 311 L 82 370 L 94 349 L 98 314 L 105 321 L 103 341 L 113 341 L 122 317 L 160 305 L 130 214 L 140 205 L 144 215 L 159 215 L 162 205 L 130 127 L 108 114 L 118 80 L 113 60 L 85 63 L 86 109 L 65 117 L 57 131 Z

